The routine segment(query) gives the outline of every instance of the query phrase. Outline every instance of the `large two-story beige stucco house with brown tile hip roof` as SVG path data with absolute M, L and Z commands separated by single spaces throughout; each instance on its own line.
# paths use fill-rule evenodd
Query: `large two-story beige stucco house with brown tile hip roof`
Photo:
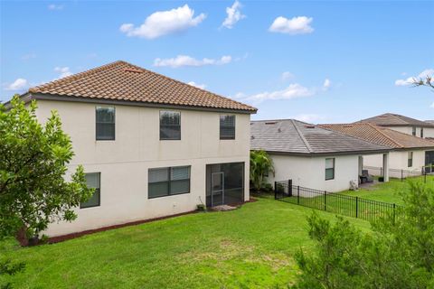
M 124 61 L 29 89 L 43 122 L 61 116 L 70 174 L 82 164 L 90 200 L 50 236 L 249 200 L 250 114 L 256 108 Z

